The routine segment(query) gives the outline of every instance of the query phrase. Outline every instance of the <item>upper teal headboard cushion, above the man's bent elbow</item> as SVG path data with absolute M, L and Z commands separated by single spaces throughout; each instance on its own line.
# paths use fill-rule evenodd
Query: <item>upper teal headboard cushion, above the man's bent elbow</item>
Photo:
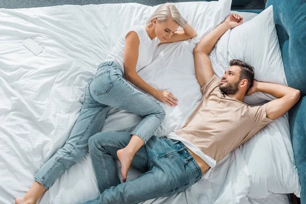
M 306 95 L 306 1 L 268 0 L 282 50 L 288 85 Z

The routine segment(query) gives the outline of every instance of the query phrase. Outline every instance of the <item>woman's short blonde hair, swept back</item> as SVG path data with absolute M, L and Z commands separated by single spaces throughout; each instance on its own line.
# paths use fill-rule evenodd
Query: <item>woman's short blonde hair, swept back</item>
M 146 25 L 152 23 L 153 19 L 157 18 L 159 22 L 166 22 L 168 19 L 172 19 L 174 22 L 184 27 L 187 21 L 183 18 L 180 11 L 172 4 L 166 3 L 159 6 L 156 11 L 146 21 Z

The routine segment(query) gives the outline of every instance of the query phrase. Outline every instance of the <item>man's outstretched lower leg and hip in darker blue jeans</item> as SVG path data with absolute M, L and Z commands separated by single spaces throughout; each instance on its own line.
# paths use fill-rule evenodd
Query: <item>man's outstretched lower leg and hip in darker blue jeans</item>
M 101 138 L 105 139 L 106 136 Z M 153 136 L 147 146 L 155 146 L 159 151 L 148 156 L 149 171 L 135 180 L 112 186 L 96 199 L 85 203 L 139 203 L 181 192 L 200 179 L 201 170 L 182 143 L 172 144 L 166 139 Z M 161 146 L 165 148 L 162 154 Z M 132 165 L 135 166 L 135 163 Z

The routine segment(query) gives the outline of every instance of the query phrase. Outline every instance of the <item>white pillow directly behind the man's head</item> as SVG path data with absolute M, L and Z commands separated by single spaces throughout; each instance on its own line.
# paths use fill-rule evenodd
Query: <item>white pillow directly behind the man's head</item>
M 210 57 L 218 59 L 218 61 L 212 62 L 218 77 L 223 75 L 232 59 L 239 59 L 254 67 L 256 80 L 287 86 L 272 6 L 252 20 L 228 30 L 219 39 Z M 227 66 L 224 67 L 224 64 Z M 245 103 L 256 105 L 273 99 L 275 97 L 270 94 L 256 92 L 246 96 Z

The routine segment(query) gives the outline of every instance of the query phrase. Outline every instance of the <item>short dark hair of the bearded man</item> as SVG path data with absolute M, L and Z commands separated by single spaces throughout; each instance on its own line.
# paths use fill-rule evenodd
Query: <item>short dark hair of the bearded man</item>
M 251 88 L 254 80 L 254 67 L 242 62 L 241 60 L 231 60 L 231 66 L 239 66 L 240 70 L 240 77 L 239 81 L 246 79 L 247 80 L 247 90 Z

